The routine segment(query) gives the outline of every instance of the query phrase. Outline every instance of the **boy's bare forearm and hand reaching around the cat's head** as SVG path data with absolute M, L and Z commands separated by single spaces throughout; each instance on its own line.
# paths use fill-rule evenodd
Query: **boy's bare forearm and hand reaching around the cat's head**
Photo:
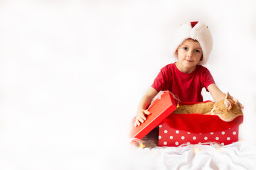
M 226 94 L 224 94 L 222 91 L 220 91 L 220 89 L 218 89 L 218 86 L 216 86 L 216 84 L 210 84 L 207 89 L 210 92 L 210 95 L 213 96 L 215 101 L 221 101 L 226 96 Z M 240 108 L 244 108 L 244 106 L 242 106 L 242 104 L 238 101 L 237 98 L 234 98 L 233 96 L 231 96 L 231 98 L 233 101 L 235 101 L 235 103 L 238 103 Z

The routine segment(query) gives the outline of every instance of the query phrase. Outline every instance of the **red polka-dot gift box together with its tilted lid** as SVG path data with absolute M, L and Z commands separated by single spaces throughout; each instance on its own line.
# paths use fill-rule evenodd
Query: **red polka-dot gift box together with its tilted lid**
M 208 101 L 206 101 L 208 102 Z M 180 105 L 194 103 L 180 103 Z M 134 128 L 130 136 L 133 142 L 141 140 L 159 125 L 159 146 L 176 147 L 183 144 L 207 144 L 217 142 L 228 145 L 238 141 L 238 128 L 243 121 L 240 115 L 231 122 L 221 120 L 218 115 L 171 114 L 176 110 L 174 97 L 164 91 L 149 107 L 149 115 L 142 125 Z

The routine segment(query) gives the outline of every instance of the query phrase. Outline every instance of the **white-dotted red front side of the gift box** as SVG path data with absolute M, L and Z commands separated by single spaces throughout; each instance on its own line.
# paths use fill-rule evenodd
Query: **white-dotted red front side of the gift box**
M 208 133 L 193 133 L 183 130 L 176 130 L 169 127 L 166 123 L 159 127 L 159 146 L 177 147 L 183 144 L 198 144 L 204 145 L 207 142 L 218 142 L 220 145 L 229 145 L 238 141 L 239 125 L 228 130 Z

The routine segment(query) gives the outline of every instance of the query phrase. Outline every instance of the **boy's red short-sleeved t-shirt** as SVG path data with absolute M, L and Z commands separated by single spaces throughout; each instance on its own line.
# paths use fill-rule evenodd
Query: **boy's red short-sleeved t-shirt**
M 169 90 L 182 102 L 202 102 L 201 91 L 210 84 L 215 82 L 206 67 L 197 65 L 193 72 L 183 73 L 172 63 L 161 69 L 151 87 L 158 92 Z

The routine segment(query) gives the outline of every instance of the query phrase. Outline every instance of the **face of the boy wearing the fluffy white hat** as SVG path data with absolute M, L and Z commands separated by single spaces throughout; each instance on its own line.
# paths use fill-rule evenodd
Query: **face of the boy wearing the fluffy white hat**
M 197 41 L 187 39 L 178 47 L 176 55 L 178 55 L 178 62 L 176 62 L 178 69 L 189 73 L 196 69 L 196 65 L 203 57 L 203 51 Z

